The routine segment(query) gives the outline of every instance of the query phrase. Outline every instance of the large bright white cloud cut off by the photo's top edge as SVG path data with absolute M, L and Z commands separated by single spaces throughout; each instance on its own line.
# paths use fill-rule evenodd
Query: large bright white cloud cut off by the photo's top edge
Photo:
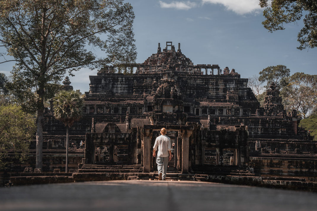
M 201 0 L 202 3 L 222 4 L 227 10 L 232 10 L 239 15 L 258 12 L 261 10 L 259 0 Z

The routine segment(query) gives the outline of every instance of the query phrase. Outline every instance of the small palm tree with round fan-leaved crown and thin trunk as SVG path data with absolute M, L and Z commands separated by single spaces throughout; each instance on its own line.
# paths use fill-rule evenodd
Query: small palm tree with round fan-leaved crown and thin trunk
M 68 172 L 69 128 L 81 119 L 84 99 L 79 91 L 62 90 L 53 102 L 54 117 L 66 126 L 66 173 Z

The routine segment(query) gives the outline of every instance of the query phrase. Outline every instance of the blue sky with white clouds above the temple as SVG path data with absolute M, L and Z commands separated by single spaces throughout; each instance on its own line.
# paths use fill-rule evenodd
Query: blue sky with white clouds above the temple
M 302 21 L 284 24 L 273 33 L 264 29 L 258 0 L 126 0 L 133 6 L 137 63 L 157 52 L 158 43 L 181 44 L 182 53 L 197 64 L 234 68 L 241 78 L 258 74 L 268 66 L 285 65 L 291 74 L 317 74 L 317 48 L 298 50 Z M 12 63 L 1 64 L 10 75 Z M 81 69 L 70 77 L 74 89 L 89 91 L 89 75 Z M 67 76 L 67 75 L 65 75 Z

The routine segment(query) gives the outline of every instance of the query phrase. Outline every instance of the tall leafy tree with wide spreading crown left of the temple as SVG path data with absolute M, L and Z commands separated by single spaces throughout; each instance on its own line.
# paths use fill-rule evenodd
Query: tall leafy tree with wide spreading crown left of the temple
M 124 0 L 0 1 L 0 42 L 13 58 L 3 62 L 16 62 L 9 88 L 37 114 L 36 168 L 42 168 L 44 102 L 67 71 L 134 62 L 133 19 Z

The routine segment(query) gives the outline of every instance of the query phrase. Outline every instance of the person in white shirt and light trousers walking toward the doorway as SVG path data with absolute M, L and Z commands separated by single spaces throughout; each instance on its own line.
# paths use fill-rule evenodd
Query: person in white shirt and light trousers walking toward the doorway
M 162 135 L 156 138 L 155 144 L 153 146 L 153 156 L 156 157 L 156 151 L 158 156 L 156 158 L 156 163 L 158 165 L 159 180 L 165 180 L 166 169 L 168 161 L 172 159 L 171 153 L 171 138 L 166 136 L 166 129 L 163 127 L 160 131 Z

